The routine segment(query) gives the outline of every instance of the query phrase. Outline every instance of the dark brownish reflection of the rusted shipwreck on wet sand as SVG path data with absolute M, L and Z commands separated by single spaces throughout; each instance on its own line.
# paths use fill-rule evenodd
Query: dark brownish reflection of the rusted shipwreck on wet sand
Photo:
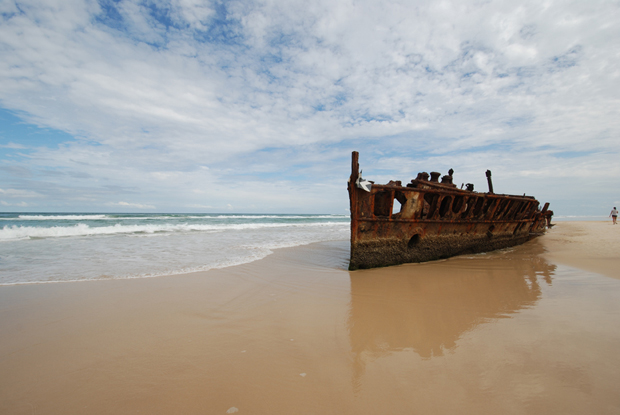
M 534 243 L 509 255 L 351 273 L 348 327 L 356 381 L 376 359 L 408 350 L 423 359 L 442 356 L 464 333 L 534 306 L 556 269 L 540 253 Z

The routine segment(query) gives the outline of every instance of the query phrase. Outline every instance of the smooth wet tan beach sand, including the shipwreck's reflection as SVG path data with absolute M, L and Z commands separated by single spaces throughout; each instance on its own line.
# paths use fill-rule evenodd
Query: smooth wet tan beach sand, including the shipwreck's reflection
M 563 260 L 602 232 L 565 224 L 375 270 L 345 271 L 335 242 L 183 276 L 0 287 L 0 413 L 620 413 L 620 280 Z

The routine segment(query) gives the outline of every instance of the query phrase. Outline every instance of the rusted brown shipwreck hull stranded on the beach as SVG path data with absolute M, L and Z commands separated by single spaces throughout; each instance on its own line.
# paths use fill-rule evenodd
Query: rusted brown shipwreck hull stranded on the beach
M 465 190 L 443 176 L 420 173 L 406 186 L 363 180 L 358 153 L 353 152 L 349 201 L 351 261 L 349 269 L 424 262 L 465 253 L 492 251 L 521 244 L 544 232 L 553 212 L 542 210 L 531 196 Z M 394 205 L 400 210 L 394 211 Z

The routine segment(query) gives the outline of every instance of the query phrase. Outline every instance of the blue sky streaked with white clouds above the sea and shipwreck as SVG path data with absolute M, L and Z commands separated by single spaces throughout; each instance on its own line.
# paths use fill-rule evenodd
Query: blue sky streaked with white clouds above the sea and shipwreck
M 0 0 L 0 211 L 347 214 L 421 171 L 620 205 L 620 1 Z

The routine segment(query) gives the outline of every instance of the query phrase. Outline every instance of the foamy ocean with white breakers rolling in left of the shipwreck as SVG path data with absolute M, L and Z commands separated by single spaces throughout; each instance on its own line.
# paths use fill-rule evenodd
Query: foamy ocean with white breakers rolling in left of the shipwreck
M 0 213 L 0 285 L 223 268 L 349 238 L 348 215 Z

